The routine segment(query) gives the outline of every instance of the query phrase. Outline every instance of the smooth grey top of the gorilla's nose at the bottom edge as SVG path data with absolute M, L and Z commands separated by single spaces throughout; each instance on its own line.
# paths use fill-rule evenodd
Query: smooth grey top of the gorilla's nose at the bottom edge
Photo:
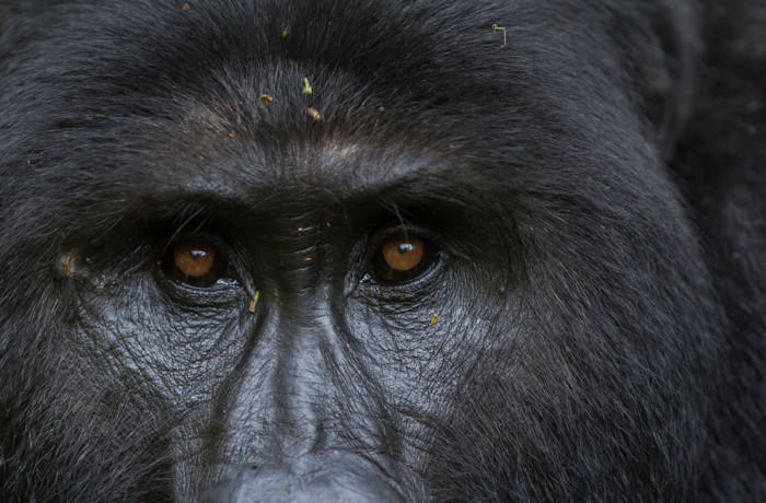
M 237 466 L 208 490 L 204 503 L 403 502 L 397 484 L 371 463 L 344 455 L 311 455 L 290 465 Z

